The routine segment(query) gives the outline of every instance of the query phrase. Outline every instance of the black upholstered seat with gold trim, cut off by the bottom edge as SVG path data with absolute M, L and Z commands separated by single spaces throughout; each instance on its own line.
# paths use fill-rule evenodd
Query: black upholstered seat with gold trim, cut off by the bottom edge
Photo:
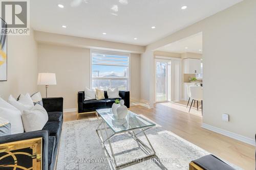
M 206 155 L 202 158 L 193 160 L 189 164 L 189 170 L 205 169 L 205 170 L 235 170 L 214 155 Z

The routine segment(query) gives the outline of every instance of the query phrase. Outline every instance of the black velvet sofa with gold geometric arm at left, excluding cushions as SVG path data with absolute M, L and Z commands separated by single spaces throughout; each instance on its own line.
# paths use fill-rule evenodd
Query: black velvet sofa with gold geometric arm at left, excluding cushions
M 44 98 L 42 102 L 49 117 L 44 128 L 40 131 L 1 136 L 0 157 L 8 155 L 8 152 L 19 152 L 19 154 L 14 154 L 17 159 L 16 165 L 19 167 L 31 168 L 41 164 L 41 169 L 54 169 L 63 123 L 63 98 Z M 28 147 L 27 145 L 33 139 L 38 139 L 39 142 L 33 143 Z M 34 153 L 35 151 L 32 148 L 35 148 L 35 145 L 38 146 L 40 143 L 41 150 L 38 147 L 36 153 Z M 0 160 L 0 169 L 1 165 L 6 165 L 2 167 L 4 169 L 12 169 L 11 167 L 14 164 L 14 159 L 7 156 L 5 159 Z

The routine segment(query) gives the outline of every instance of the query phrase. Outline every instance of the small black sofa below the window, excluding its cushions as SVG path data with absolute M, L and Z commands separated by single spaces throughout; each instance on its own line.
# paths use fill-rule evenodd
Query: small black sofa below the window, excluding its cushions
M 111 108 L 116 99 L 109 99 L 108 94 L 104 91 L 105 99 L 84 101 L 84 91 L 79 91 L 77 95 L 77 107 L 79 113 L 95 112 L 96 109 Z M 119 96 L 124 100 L 124 105 L 130 108 L 130 91 L 119 91 Z

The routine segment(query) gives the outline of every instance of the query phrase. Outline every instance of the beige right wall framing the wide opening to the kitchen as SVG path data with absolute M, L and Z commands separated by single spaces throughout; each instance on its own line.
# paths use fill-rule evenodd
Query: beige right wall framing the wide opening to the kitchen
M 146 52 L 153 54 L 156 48 L 203 32 L 203 123 L 252 141 L 256 133 L 256 79 L 251 78 L 256 72 L 255 16 L 256 1 L 244 0 L 146 47 Z M 141 70 L 151 67 L 146 58 L 150 55 L 142 54 Z M 146 71 L 141 71 L 144 76 Z M 150 79 L 154 76 L 141 79 L 141 89 Z M 152 95 L 148 93 L 154 94 L 148 88 L 141 92 L 145 99 Z M 230 122 L 222 122 L 222 113 L 230 115 Z

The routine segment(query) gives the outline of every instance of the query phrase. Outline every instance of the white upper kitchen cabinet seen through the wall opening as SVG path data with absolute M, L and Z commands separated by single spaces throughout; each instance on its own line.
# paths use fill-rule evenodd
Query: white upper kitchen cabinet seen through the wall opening
M 186 58 L 183 60 L 184 74 L 201 74 L 201 60 Z

